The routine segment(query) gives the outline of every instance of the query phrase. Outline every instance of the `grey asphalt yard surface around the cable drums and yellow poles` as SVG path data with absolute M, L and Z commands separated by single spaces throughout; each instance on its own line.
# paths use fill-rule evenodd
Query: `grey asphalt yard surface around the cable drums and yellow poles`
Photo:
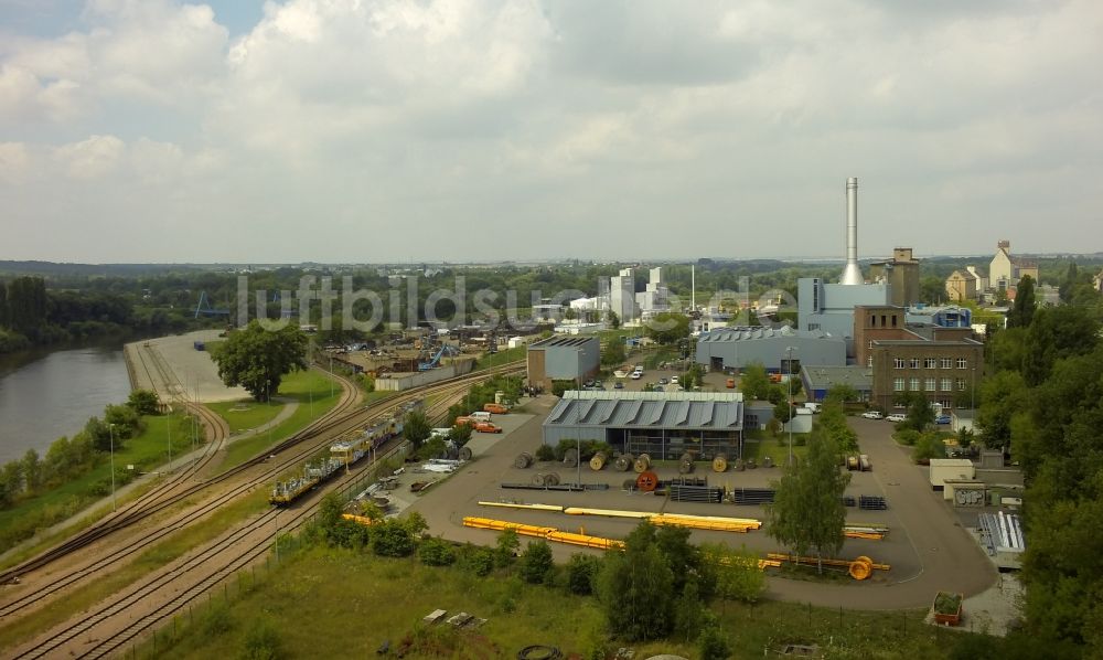
M 556 471 L 563 481 L 575 481 L 575 469 L 558 465 L 537 465 L 528 469 L 513 467 L 521 451 L 535 451 L 540 445 L 540 424 L 555 404 L 555 398 L 543 396 L 529 402 L 532 415 L 495 416 L 505 432 L 493 437 L 479 436 L 474 440 L 476 460 L 461 468 L 450 478 L 432 486 L 424 494 L 409 493 L 405 482 L 424 476 L 407 475 L 404 486 L 395 491 L 396 503 L 419 511 L 429 523 L 432 534 L 461 542 L 489 545 L 495 533 L 462 526 L 467 515 L 495 518 L 555 526 L 566 531 L 623 537 L 631 532 L 635 521 L 613 518 L 568 517 L 555 512 L 538 512 L 480 507 L 479 501 L 518 501 L 527 503 L 585 505 L 602 509 L 632 511 L 666 511 L 704 515 L 728 515 L 765 520 L 765 512 L 757 507 L 731 504 L 702 504 L 671 502 L 661 497 L 628 492 L 622 482 L 634 478 L 634 472 L 614 472 L 610 469 L 593 472 L 582 466 L 583 483 L 603 482 L 606 491 L 558 492 L 539 490 L 506 490 L 502 482 L 529 482 L 537 471 Z M 927 468 L 914 466 L 904 449 L 889 437 L 892 424 L 884 421 L 852 418 L 864 453 L 874 466 L 871 472 L 853 473 L 848 494 L 884 494 L 887 511 L 848 510 L 849 522 L 877 522 L 891 529 L 885 541 L 847 540 L 842 556 L 868 555 L 879 563 L 890 564 L 888 572 L 875 572 L 864 583 L 820 584 L 779 577 L 769 579 L 768 596 L 772 598 L 812 603 L 822 606 L 844 606 L 848 609 L 900 609 L 927 607 L 940 589 L 963 592 L 966 596 L 992 586 L 996 571 L 970 534 L 960 526 L 949 502 L 942 493 L 933 492 L 927 481 Z M 660 465 L 660 477 L 676 476 L 676 466 Z M 699 466 L 697 476 L 708 478 L 710 485 L 740 487 L 765 486 L 780 477 L 778 469 L 748 470 L 717 475 L 707 466 Z M 758 552 L 778 551 L 777 542 L 764 531 L 747 534 L 694 531 L 694 542 L 724 542 L 746 545 Z M 524 544 L 526 541 L 522 539 Z M 553 544 L 557 561 L 566 561 L 583 549 Z M 600 551 L 585 551 L 595 552 Z

